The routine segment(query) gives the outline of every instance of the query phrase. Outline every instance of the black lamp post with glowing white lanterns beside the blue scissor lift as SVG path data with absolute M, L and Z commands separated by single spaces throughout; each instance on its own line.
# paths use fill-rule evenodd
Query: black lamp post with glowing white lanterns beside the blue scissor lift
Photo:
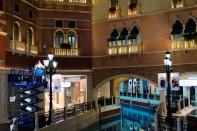
M 57 62 L 53 59 L 54 55 L 52 53 L 48 54 L 48 59 L 44 60 L 44 66 L 46 68 L 46 74 L 49 75 L 49 119 L 48 122 L 51 124 L 52 120 L 52 110 L 53 110 L 53 104 L 52 104 L 52 75 L 55 74 Z

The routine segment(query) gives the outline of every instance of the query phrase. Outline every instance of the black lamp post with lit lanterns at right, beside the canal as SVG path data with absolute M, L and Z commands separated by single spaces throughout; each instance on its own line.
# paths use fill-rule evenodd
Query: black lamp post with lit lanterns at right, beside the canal
M 164 65 L 166 67 L 166 76 L 167 76 L 167 117 L 166 121 L 169 123 L 170 129 L 172 124 L 172 111 L 171 111 L 171 87 L 170 87 L 170 73 L 172 72 L 172 61 L 170 59 L 170 52 L 165 53 Z

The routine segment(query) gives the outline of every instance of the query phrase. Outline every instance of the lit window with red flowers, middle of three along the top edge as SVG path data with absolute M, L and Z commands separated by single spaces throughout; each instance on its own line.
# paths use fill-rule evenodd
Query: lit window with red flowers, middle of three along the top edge
M 128 15 L 136 15 L 139 13 L 138 0 L 130 0 Z

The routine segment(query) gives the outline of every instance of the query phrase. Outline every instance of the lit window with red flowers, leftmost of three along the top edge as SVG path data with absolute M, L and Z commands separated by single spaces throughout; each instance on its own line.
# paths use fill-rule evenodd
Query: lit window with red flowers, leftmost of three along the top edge
M 109 9 L 109 18 L 118 17 L 118 0 L 111 0 L 111 7 Z

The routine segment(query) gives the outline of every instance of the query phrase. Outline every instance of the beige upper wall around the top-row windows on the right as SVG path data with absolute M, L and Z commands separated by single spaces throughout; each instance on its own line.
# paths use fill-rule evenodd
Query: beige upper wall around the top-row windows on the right
M 165 11 L 171 9 L 171 0 L 139 0 L 141 14 L 154 13 L 158 11 Z M 120 17 L 128 16 L 128 6 L 130 0 L 119 0 Z M 110 0 L 93 0 L 93 21 L 108 20 L 109 8 L 111 6 Z M 185 0 L 184 7 L 191 7 L 197 4 L 196 0 Z M 118 19 L 119 19 L 118 18 Z

